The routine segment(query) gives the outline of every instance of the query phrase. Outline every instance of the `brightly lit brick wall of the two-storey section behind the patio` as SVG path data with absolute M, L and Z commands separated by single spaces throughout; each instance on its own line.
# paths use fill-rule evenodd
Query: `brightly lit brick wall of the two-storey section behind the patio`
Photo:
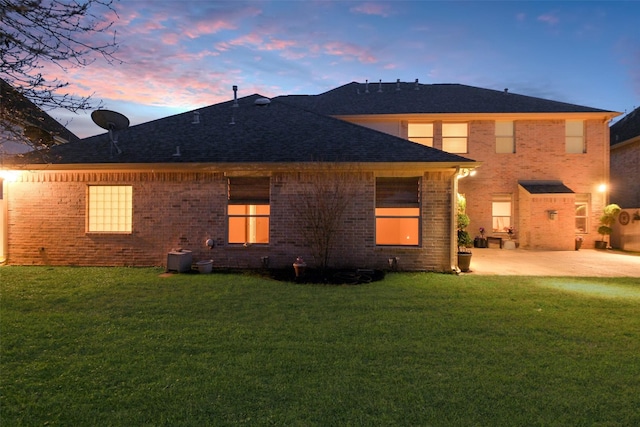
M 461 179 L 459 183 L 459 191 L 467 199 L 467 213 L 471 218 L 468 230 L 472 236 L 480 227 L 491 230 L 492 195 L 510 193 L 514 196 L 512 220 L 516 238 L 522 240 L 521 247 L 572 249 L 575 207 L 570 206 L 571 203 L 558 197 L 536 206 L 526 201 L 523 204 L 519 198 L 520 180 L 557 180 L 575 193 L 590 195 L 589 233 L 585 235 L 583 247 L 593 248 L 599 239 L 596 230 L 605 203 L 605 195 L 598 192 L 598 185 L 605 183 L 608 175 L 607 125 L 602 120 L 586 121 L 587 152 L 584 154 L 565 153 L 564 120 L 516 120 L 516 152 L 509 154 L 495 152 L 494 126 L 491 120 L 469 124 L 466 157 L 483 162 L 475 176 Z M 521 212 L 523 208 L 529 211 Z M 545 211 L 552 209 L 559 212 L 559 220 L 549 224 Z M 557 232 L 555 238 L 545 237 L 544 230 L 552 229 Z

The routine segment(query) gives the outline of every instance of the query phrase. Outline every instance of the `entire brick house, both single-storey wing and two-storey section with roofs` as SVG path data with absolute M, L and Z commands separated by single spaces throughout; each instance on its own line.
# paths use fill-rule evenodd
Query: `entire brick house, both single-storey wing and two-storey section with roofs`
M 182 248 L 218 266 L 322 264 L 305 212 L 348 200 L 332 266 L 450 271 L 457 193 L 492 242 L 593 247 L 617 115 L 418 81 L 234 96 L 29 158 L 5 183 L 8 262 L 160 265 Z

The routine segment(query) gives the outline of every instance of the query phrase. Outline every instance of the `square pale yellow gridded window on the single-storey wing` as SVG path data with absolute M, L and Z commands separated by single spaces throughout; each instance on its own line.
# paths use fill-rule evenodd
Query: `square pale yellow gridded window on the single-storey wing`
M 89 186 L 89 233 L 131 233 L 132 218 L 133 190 L 130 185 Z

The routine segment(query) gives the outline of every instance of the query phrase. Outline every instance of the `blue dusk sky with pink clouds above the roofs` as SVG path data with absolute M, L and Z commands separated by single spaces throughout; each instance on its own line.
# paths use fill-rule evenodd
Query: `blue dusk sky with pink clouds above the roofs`
M 352 81 L 460 83 L 621 113 L 640 106 L 640 1 L 120 0 L 117 61 L 45 66 L 139 124 Z M 112 34 L 111 34 L 112 35 Z M 97 41 L 97 40 L 96 40 Z M 49 113 L 79 137 L 90 111 Z

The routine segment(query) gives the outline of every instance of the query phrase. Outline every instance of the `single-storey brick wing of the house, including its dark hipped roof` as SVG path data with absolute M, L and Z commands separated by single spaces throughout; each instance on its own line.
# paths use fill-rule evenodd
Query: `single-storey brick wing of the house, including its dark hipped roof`
M 313 266 L 320 211 L 339 219 L 326 265 L 430 271 L 456 264 L 456 177 L 478 166 L 259 94 L 21 161 L 4 183 L 10 264 L 165 265 L 191 251 L 218 267 Z

